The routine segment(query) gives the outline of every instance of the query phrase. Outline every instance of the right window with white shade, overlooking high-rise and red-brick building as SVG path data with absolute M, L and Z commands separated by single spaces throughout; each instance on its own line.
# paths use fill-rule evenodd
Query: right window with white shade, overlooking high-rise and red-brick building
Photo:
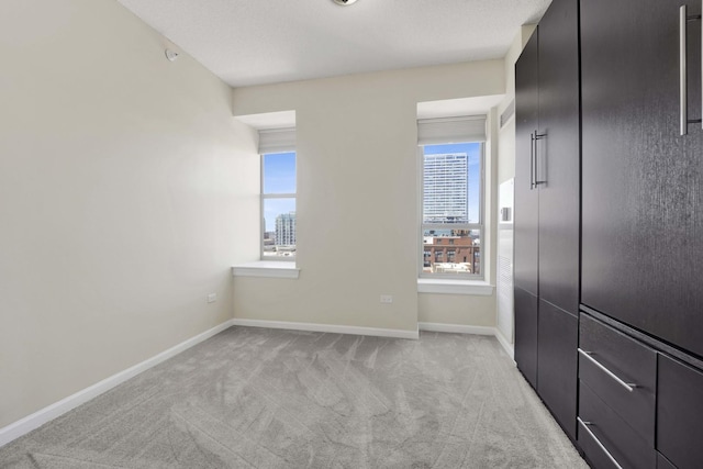
M 421 277 L 482 277 L 484 127 L 484 118 L 419 121 Z

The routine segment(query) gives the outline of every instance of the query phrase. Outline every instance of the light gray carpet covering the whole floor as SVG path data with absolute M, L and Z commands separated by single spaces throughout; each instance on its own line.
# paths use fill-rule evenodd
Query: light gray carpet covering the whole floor
M 2 468 L 587 468 L 493 337 L 232 327 L 0 448 Z

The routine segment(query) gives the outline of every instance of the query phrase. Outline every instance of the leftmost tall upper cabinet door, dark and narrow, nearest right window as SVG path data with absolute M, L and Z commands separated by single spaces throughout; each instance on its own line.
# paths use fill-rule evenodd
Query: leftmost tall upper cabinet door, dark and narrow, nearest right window
M 515 64 L 515 287 L 538 294 L 538 192 L 533 182 L 532 137 L 538 121 L 538 31 Z

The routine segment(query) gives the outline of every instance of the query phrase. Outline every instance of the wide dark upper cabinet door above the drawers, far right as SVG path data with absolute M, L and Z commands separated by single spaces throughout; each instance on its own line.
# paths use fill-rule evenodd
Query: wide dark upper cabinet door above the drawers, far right
M 679 5 L 581 2 L 582 302 L 703 356 L 703 131 L 680 135 Z M 689 119 L 701 26 L 688 24 Z

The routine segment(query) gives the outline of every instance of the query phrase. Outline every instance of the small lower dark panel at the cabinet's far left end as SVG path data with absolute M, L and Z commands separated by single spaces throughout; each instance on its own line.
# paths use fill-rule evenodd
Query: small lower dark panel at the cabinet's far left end
M 533 388 L 537 388 L 537 297 L 515 289 L 515 362 Z

